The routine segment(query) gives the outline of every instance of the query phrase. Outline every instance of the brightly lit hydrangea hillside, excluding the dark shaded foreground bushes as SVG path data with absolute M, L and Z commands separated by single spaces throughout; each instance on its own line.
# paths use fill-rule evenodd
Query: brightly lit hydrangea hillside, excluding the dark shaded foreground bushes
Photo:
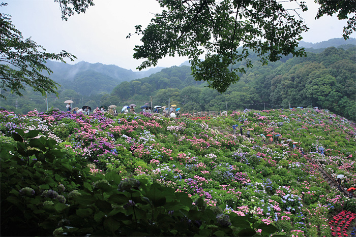
M 56 140 L 68 157 L 86 160 L 93 174 L 114 171 L 157 182 L 193 200 L 202 197 L 206 205 L 224 205 L 225 213 L 252 214 L 290 236 L 336 235 L 333 216 L 356 213 L 355 199 L 330 187 L 306 159 L 333 177 L 344 175 L 343 187 L 356 187 L 355 124 L 328 111 L 245 110 L 173 120 L 56 111 L 19 117 L 1 111 L 0 119 L 2 142 L 11 143 L 15 128 L 40 130 L 39 136 Z

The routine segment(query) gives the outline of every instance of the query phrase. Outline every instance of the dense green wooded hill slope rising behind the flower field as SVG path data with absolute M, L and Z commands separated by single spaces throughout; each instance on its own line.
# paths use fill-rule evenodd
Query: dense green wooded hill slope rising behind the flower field
M 256 61 L 222 94 L 204 87 L 206 83 L 195 82 L 188 66 L 173 66 L 147 78 L 121 83 L 104 104 L 147 102 L 153 96 L 155 105 L 167 105 L 170 100 L 189 111 L 322 107 L 356 120 L 355 53 L 356 47 L 330 47 L 264 66 Z M 251 58 L 257 60 L 256 55 Z

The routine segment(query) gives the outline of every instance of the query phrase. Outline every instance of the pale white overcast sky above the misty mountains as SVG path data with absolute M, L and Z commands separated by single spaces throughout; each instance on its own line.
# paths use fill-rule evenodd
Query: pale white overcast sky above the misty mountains
M 47 52 L 66 50 L 79 61 L 114 64 L 124 69 L 137 71 L 143 60 L 133 58 L 134 46 L 140 45 L 140 36 L 126 39 L 134 33 L 135 25 L 144 28 L 150 23 L 154 13 L 161 11 L 156 0 L 94 0 L 95 6 L 86 13 L 75 14 L 63 21 L 61 9 L 53 0 L 3 0 L 8 6 L 0 11 L 11 15 L 11 21 L 24 38 L 32 37 Z M 308 0 L 307 13 L 302 13 L 308 32 L 303 33 L 303 41 L 317 43 L 333 38 L 341 38 L 346 20 L 339 21 L 336 16 L 324 16 L 314 20 L 318 5 Z M 356 38 L 356 33 L 351 35 Z M 166 57 L 157 66 L 180 65 L 187 57 Z

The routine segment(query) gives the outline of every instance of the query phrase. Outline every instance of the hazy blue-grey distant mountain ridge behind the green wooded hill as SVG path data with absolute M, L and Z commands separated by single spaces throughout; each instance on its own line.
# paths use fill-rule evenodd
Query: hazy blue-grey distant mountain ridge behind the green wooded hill
M 343 38 L 337 38 L 315 44 L 301 41 L 299 47 L 305 47 L 307 52 L 319 53 L 323 48 L 343 47 L 346 49 L 354 45 L 356 45 L 356 39 L 354 38 L 350 38 L 347 41 Z M 284 59 L 287 60 L 289 58 L 291 58 L 291 55 Z M 180 66 L 183 65 L 190 66 L 190 63 L 185 61 Z M 164 67 L 155 67 L 147 71 L 133 72 L 117 65 L 85 61 L 80 61 L 74 65 L 47 61 L 47 66 L 53 71 L 49 77 L 62 85 L 62 89 L 73 89 L 80 94 L 88 95 L 101 92 L 110 93 L 115 86 L 122 82 L 147 78 L 164 69 Z

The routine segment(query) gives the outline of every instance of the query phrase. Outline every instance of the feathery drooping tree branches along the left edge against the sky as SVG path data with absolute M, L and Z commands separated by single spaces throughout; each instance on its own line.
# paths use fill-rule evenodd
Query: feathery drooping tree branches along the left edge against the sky
M 20 90 L 28 85 L 42 95 L 46 92 L 57 93 L 58 84 L 41 74 L 42 71 L 52 73 L 46 66 L 46 60 L 65 62 L 66 57 L 72 61 L 76 57 L 66 51 L 47 53 L 31 38 L 24 40 L 10 19 L 9 15 L 0 13 L 0 88 L 22 95 Z M 0 94 L 0 97 L 5 96 Z

